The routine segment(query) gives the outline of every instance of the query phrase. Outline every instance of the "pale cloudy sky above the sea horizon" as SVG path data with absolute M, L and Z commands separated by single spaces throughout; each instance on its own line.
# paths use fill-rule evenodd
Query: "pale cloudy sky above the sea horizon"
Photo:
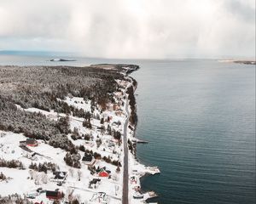
M 0 50 L 255 58 L 255 0 L 0 0 Z

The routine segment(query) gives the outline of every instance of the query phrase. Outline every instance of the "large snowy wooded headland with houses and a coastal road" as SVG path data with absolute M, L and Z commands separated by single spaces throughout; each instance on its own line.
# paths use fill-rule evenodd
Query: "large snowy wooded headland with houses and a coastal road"
M 136 204 L 138 65 L 0 66 L 0 202 Z

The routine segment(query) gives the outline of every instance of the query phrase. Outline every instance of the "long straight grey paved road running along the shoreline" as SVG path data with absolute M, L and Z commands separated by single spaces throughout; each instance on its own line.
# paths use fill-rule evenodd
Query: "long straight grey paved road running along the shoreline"
M 128 97 L 127 97 L 128 98 Z M 124 126 L 124 178 L 123 178 L 123 204 L 129 204 L 129 199 L 128 199 L 128 181 L 129 181 L 129 174 L 128 174 L 128 145 L 127 145 L 127 127 L 128 127 L 128 122 L 129 122 L 129 117 L 130 117 L 130 112 L 128 110 L 128 99 L 126 100 L 126 107 L 125 111 L 127 113 L 127 118 L 125 121 L 125 126 Z

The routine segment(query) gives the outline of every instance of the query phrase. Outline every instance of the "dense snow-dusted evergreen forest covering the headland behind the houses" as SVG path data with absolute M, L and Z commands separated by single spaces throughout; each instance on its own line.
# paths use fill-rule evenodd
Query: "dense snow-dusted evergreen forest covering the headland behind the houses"
M 60 99 L 68 95 L 82 97 L 104 110 L 106 104 L 113 101 L 113 92 L 118 89 L 115 80 L 124 78 L 120 73 L 121 66 L 111 67 L 106 70 L 101 65 L 0 66 L 0 130 L 49 140 L 50 145 L 69 150 L 72 145 L 67 139 L 67 133 L 70 133 L 68 118 L 53 121 L 41 113 L 23 109 L 33 107 L 72 113 L 88 120 L 90 112 L 78 110 Z

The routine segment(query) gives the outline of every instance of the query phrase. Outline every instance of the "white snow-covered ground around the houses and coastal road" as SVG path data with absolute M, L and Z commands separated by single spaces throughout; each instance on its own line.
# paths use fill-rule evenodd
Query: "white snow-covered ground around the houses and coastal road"
M 119 85 L 124 88 L 121 89 L 121 92 L 114 93 L 116 107 L 113 108 L 113 105 L 108 105 L 108 110 L 103 111 L 102 113 L 98 110 L 95 110 L 93 114 L 99 114 L 100 117 L 105 119 L 110 118 L 109 121 L 104 122 L 104 126 L 107 129 L 108 125 L 115 130 L 118 130 L 120 133 L 124 132 L 124 125 L 126 117 L 129 115 L 125 112 L 125 105 L 127 103 L 125 98 L 125 88 L 131 86 L 131 82 L 127 81 L 118 81 Z M 63 100 L 68 105 L 73 105 L 78 109 L 83 109 L 84 111 L 91 111 L 90 100 L 84 101 L 83 98 L 78 97 L 67 97 Z M 18 108 L 21 109 L 19 105 Z M 24 109 L 24 111 L 31 112 L 41 112 L 45 116 L 49 117 L 51 120 L 57 120 L 61 116 L 66 116 L 65 114 L 59 114 L 55 111 L 43 111 L 36 108 Z M 69 116 L 70 128 L 73 131 L 75 128 L 78 129 L 80 134 L 90 134 L 92 138 L 90 141 L 85 139 L 76 139 L 73 140 L 71 135 L 68 135 L 75 145 L 84 145 L 86 150 L 92 150 L 93 152 L 99 153 L 103 156 L 111 158 L 111 160 L 120 161 L 123 164 L 124 152 L 123 144 L 119 144 L 113 136 L 107 133 L 101 133 L 101 130 L 98 127 L 101 127 L 102 124 L 100 120 L 96 118 L 91 118 L 92 129 L 83 127 L 84 118 L 79 118 L 77 116 Z M 134 137 L 134 132 L 131 129 L 127 128 L 127 138 L 132 139 Z M 96 139 L 101 139 L 102 144 L 97 146 Z M 100 184 L 96 185 L 96 188 L 90 188 L 89 183 L 93 178 L 99 178 L 97 175 L 91 175 L 88 166 L 81 162 L 82 166 L 80 169 L 67 166 L 66 162 L 63 160 L 66 155 L 65 150 L 60 148 L 54 148 L 49 144 L 45 143 L 43 140 L 38 140 L 38 146 L 29 147 L 32 152 L 28 152 L 20 148 L 20 141 L 26 140 L 26 137 L 21 133 L 11 133 L 0 131 L 0 158 L 3 158 L 6 161 L 10 160 L 19 160 L 24 165 L 24 169 L 16 168 L 7 168 L 0 167 L 0 173 L 2 172 L 8 179 L 1 181 L 0 180 L 0 195 L 34 195 L 35 198 L 31 199 L 33 202 L 43 201 L 44 203 L 52 203 L 46 198 L 45 193 L 38 194 L 35 193 L 38 188 L 43 190 L 56 190 L 59 189 L 65 194 L 65 199 L 68 201 L 67 195 L 72 195 L 72 197 L 77 198 L 81 203 L 121 203 L 122 200 L 122 188 L 123 188 L 123 168 L 120 168 L 120 172 L 117 173 L 117 167 L 113 164 L 107 163 L 102 160 L 96 160 L 94 165 L 96 167 L 106 167 L 111 171 L 111 178 L 100 178 Z M 32 156 L 32 153 L 38 153 L 35 156 Z M 79 151 L 81 156 L 84 155 L 84 152 Z M 67 178 L 65 182 L 59 186 L 58 183 L 53 179 L 54 175 L 52 172 L 48 171 L 47 173 L 38 173 L 30 169 L 29 166 L 31 163 L 43 163 L 51 162 L 55 163 L 59 167 L 59 171 L 67 172 Z M 129 196 L 130 203 L 137 204 L 143 203 L 145 199 L 149 197 L 148 193 L 143 195 L 143 199 L 133 199 L 133 195 L 136 194 L 137 186 L 140 186 L 139 178 L 145 173 L 159 173 L 158 168 L 145 167 L 142 164 L 138 163 L 135 159 L 135 156 L 129 152 L 129 177 L 135 178 L 137 182 L 130 182 L 129 184 Z M 79 178 L 80 177 L 80 178 Z M 98 196 L 98 192 L 106 193 L 108 201 L 101 202 Z

